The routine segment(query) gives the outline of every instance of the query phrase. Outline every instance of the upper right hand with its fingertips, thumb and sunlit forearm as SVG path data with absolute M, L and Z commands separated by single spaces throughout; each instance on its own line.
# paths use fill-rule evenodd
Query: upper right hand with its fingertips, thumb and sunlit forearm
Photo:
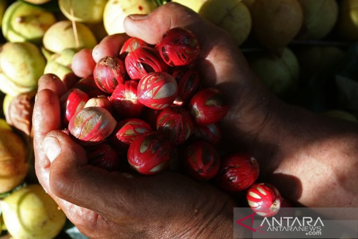
M 182 6 L 170 3 L 147 17 L 133 18 L 125 19 L 127 34 L 151 44 L 158 43 L 162 34 L 173 27 L 185 27 L 197 35 L 201 44 L 198 67 L 203 81 L 206 86 L 221 89 L 230 103 L 221 124 L 225 144 L 234 144 L 229 147 L 234 149 L 242 146 L 252 153 L 260 164 L 262 178 L 268 176 L 266 180 L 271 180 L 285 196 L 306 206 L 358 205 L 358 188 L 354 184 L 357 127 L 275 98 L 251 72 L 224 30 Z M 120 36 L 103 40 L 93 50 L 93 59 L 116 56 L 121 46 L 116 38 Z M 81 55 L 83 52 L 74 58 L 74 70 L 92 73 L 94 62 L 80 64 L 81 59 L 85 62 Z M 325 193 L 332 186 L 334 190 Z

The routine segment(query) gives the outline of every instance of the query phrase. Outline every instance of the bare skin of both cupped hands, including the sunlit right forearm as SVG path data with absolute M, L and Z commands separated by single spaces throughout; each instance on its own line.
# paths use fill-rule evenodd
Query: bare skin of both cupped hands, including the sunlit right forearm
M 358 206 L 356 125 L 277 100 L 228 34 L 183 6 L 165 4 L 149 16 L 127 17 L 124 26 L 129 36 L 149 44 L 173 27 L 192 30 L 201 43 L 205 85 L 215 85 L 231 102 L 222 121 L 224 138 L 252 153 L 262 176 L 291 200 L 306 206 Z M 94 61 L 116 56 L 127 38 L 103 39 L 93 49 Z M 78 53 L 73 66 L 81 77 L 89 74 L 90 52 Z M 87 165 L 83 148 L 58 131 L 61 84 L 56 78 L 40 80 L 39 89 L 33 115 L 36 173 L 82 233 L 90 238 L 232 237 L 232 208 L 238 205 L 231 197 L 173 172 L 144 177 Z M 327 187 L 330 193 L 323 193 Z

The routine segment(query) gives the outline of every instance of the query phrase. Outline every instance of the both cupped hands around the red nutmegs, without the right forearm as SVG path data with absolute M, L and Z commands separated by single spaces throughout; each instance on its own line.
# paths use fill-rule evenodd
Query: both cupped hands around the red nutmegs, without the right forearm
M 76 75 L 92 75 L 95 62 L 117 56 L 128 36 L 156 44 L 170 28 L 185 27 L 199 39 L 198 67 L 204 84 L 218 87 L 230 103 L 222 121 L 224 137 L 252 148 L 276 99 L 253 75 L 227 32 L 174 3 L 149 15 L 130 15 L 124 26 L 126 34 L 110 35 L 93 51 L 76 54 L 72 64 Z M 87 165 L 84 149 L 60 131 L 59 97 L 65 91 L 58 79 L 39 81 L 33 114 L 35 168 L 45 191 L 83 234 L 90 238 L 232 237 L 237 205 L 208 183 L 174 172 L 146 177 Z

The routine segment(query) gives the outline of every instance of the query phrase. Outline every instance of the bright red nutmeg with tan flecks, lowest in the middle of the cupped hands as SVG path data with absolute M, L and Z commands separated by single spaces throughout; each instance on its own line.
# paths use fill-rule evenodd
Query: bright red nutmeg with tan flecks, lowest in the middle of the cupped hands
M 129 145 L 128 162 L 144 175 L 163 171 L 170 161 L 171 144 L 158 132 L 149 132 L 135 138 Z

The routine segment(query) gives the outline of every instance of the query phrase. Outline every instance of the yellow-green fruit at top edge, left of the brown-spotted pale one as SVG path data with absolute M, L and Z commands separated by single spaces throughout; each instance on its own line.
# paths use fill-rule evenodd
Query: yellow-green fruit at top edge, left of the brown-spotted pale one
M 69 20 L 84 23 L 99 23 L 107 0 L 58 0 L 60 9 Z

